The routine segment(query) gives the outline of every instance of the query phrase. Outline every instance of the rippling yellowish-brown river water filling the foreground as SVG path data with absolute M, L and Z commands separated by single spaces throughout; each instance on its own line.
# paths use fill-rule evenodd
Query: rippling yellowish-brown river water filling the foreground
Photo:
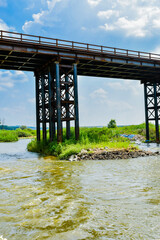
M 160 156 L 59 161 L 29 141 L 0 143 L 0 239 L 160 239 Z

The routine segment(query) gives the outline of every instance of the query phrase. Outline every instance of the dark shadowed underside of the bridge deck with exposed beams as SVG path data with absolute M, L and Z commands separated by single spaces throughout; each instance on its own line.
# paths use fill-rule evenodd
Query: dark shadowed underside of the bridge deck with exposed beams
M 77 57 L 76 54 L 63 56 L 59 52 L 55 52 L 54 56 L 43 53 L 43 51 L 42 53 L 30 53 L 0 49 L 0 69 L 35 72 L 42 68 L 45 69 L 55 61 L 59 61 L 66 68 L 76 62 L 78 64 L 77 73 L 81 76 L 159 81 L 160 63 L 158 65 L 150 61 L 146 62 L 146 59 L 138 62 L 136 58 L 130 61 L 125 58 L 115 59 L 115 56 L 108 58 L 86 56 L 85 59 L 82 56 Z M 156 65 L 157 67 L 155 67 Z

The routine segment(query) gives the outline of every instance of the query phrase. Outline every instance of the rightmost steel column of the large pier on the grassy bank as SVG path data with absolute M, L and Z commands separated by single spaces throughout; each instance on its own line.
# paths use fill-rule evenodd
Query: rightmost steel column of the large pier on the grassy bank
M 77 64 L 73 64 L 74 79 L 74 109 L 75 109 L 75 138 L 79 139 L 79 110 L 78 110 L 78 81 L 77 81 Z

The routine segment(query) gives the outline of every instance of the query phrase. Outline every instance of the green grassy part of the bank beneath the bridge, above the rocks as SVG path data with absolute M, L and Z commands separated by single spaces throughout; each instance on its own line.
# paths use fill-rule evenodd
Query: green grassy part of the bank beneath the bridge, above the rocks
M 152 131 L 153 127 L 154 125 L 150 126 L 150 131 Z M 124 137 L 124 135 L 128 136 L 131 134 L 133 135 L 132 139 Z M 71 128 L 71 138 L 69 140 L 65 138 L 64 132 L 63 142 L 60 144 L 57 144 L 56 139 L 54 139 L 53 142 L 37 142 L 33 140 L 28 144 L 27 148 L 31 152 L 38 152 L 48 156 L 52 155 L 59 159 L 69 159 L 71 156 L 78 156 L 83 150 L 90 154 L 86 157 L 91 156 L 91 158 L 94 159 L 95 151 L 97 152 L 98 149 L 110 153 L 112 151 L 120 152 L 121 150 L 122 152 L 126 150 L 129 153 L 135 153 L 137 151 L 138 154 L 138 147 L 135 146 L 133 141 L 136 140 L 137 137 L 138 139 L 145 140 L 145 124 L 117 128 L 80 128 L 80 138 L 78 141 L 75 141 L 74 129 Z M 139 152 L 139 154 L 141 153 Z M 109 155 L 109 157 L 111 159 L 111 155 Z M 130 157 L 130 155 L 128 155 L 128 157 Z

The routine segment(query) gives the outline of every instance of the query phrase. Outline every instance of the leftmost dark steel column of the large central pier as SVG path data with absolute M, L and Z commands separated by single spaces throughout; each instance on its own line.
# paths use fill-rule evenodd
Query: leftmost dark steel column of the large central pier
M 40 137 L 40 116 L 39 116 L 39 75 L 35 73 L 35 85 L 36 85 L 36 130 L 37 141 L 41 140 Z

